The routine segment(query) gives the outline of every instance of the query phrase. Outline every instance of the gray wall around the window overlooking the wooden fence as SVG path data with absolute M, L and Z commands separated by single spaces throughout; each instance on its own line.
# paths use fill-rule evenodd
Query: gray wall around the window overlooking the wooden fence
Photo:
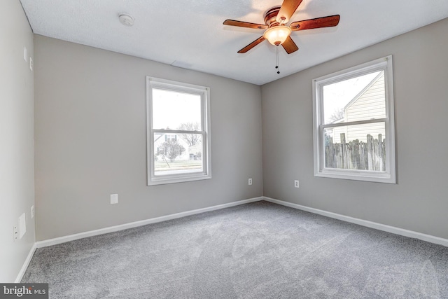
M 448 238 L 447 32 L 445 19 L 263 85 L 264 195 Z M 311 80 L 386 55 L 393 55 L 398 183 L 314 177 Z

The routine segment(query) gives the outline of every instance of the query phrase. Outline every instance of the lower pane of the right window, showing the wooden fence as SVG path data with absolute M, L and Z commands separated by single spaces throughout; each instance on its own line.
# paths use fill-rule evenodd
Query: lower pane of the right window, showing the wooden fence
M 325 168 L 386 171 L 385 123 L 323 130 Z

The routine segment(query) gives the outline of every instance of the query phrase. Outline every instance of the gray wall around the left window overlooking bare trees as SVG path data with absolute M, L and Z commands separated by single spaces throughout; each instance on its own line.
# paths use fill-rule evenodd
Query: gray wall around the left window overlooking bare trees
M 34 48 L 37 240 L 262 195 L 260 86 L 44 36 Z M 146 186 L 146 76 L 211 88 L 212 179 Z

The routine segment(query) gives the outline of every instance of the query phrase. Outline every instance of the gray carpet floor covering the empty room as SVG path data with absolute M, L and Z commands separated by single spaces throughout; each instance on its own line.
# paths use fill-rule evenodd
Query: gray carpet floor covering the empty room
M 448 298 L 448 247 L 254 202 L 37 249 L 50 298 Z

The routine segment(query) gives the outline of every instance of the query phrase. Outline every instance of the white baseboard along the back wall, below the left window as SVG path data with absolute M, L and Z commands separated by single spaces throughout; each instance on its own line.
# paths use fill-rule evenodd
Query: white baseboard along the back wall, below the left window
M 182 218 L 182 217 L 186 217 L 186 216 L 190 216 L 190 215 L 204 213 L 206 211 L 215 211 L 217 209 L 225 209 L 228 207 L 235 207 L 240 204 L 247 204 L 249 202 L 258 202 L 260 200 L 263 200 L 263 197 L 254 197 L 254 198 L 250 198 L 248 200 L 239 200 L 237 202 L 229 202 L 228 204 L 218 204 L 217 206 L 213 206 L 213 207 L 207 207 L 207 208 L 203 208 L 203 209 L 195 209 L 192 211 L 183 211 L 181 213 L 171 214 L 171 215 L 167 215 L 167 216 L 160 216 L 160 217 L 156 217 L 156 218 L 150 218 L 150 219 L 146 219 L 146 220 L 142 220 L 142 221 L 135 221 L 135 222 L 131 222 L 131 223 L 125 223 L 125 224 L 121 224 L 121 225 L 111 226 L 109 228 L 101 228 L 99 230 L 90 230 L 88 232 L 80 232 L 78 234 L 68 235 L 68 236 L 64 236 L 64 237 L 47 239 L 44 241 L 36 242 L 35 245 L 37 248 L 52 246 L 52 245 L 56 245 L 56 244 L 62 244 L 65 242 L 73 241 L 76 239 L 83 239 L 85 237 L 103 235 L 103 234 L 107 234 L 109 232 L 118 232 L 119 230 L 127 230 L 128 228 L 137 228 L 142 225 L 158 223 L 158 222 L 167 221 L 167 220 L 176 219 L 176 218 Z M 25 267 L 25 270 L 26 270 L 26 267 Z

